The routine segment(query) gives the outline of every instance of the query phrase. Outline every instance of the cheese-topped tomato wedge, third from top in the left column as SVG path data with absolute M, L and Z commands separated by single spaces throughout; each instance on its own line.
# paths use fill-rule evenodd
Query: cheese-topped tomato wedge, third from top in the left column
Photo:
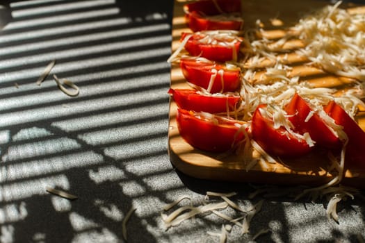
M 209 60 L 226 62 L 236 61 L 242 38 L 233 35 L 230 31 L 202 31 L 193 34 L 182 33 L 181 41 L 188 37 L 185 49 L 191 56 L 202 56 Z

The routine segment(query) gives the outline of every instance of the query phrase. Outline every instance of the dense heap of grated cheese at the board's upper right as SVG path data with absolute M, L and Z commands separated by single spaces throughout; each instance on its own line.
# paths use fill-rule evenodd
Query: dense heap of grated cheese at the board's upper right
M 340 4 L 327 6 L 292 28 L 305 43 L 297 53 L 327 72 L 365 81 L 365 15 L 350 15 L 338 8 Z

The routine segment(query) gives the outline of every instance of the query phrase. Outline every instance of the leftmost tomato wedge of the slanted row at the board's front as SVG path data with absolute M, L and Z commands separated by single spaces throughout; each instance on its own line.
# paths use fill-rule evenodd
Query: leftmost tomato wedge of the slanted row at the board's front
M 312 148 L 305 140 L 298 140 L 284 127 L 274 128 L 274 121 L 263 117 L 261 109 L 266 109 L 266 105 L 260 105 L 255 110 L 251 130 L 252 138 L 266 153 L 288 158 L 303 156 L 311 151 Z

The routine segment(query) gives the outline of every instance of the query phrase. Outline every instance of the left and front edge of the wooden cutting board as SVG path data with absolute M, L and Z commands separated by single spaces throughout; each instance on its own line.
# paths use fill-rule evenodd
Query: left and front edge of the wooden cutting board
M 177 48 L 177 42 L 179 39 L 177 35 L 182 31 L 188 30 L 186 26 L 181 22 L 182 16 L 182 6 L 183 3 L 180 1 L 174 1 L 174 15 L 173 19 L 179 14 L 179 21 L 177 22 L 180 30 L 175 30 L 174 22 L 172 22 L 172 51 Z M 181 8 L 181 9 L 179 9 Z M 181 80 L 182 74 L 179 73 L 179 67 L 174 67 L 171 65 L 170 72 L 170 87 L 189 87 L 184 84 Z M 215 154 L 205 153 L 203 151 L 198 151 L 192 146 L 187 144 L 182 137 L 179 136 L 176 124 L 176 112 L 177 107 L 175 102 L 170 99 L 169 107 L 169 131 L 168 131 L 168 155 L 170 162 L 174 167 L 176 167 L 182 173 L 192 176 L 194 178 L 215 180 L 215 181 L 230 181 L 237 183 L 259 183 L 259 184 L 271 184 L 271 185 L 323 185 L 330 181 L 333 176 L 325 173 L 325 171 L 320 171 L 319 174 L 298 174 L 298 173 L 278 173 L 277 171 L 264 171 L 261 169 L 253 168 L 250 171 L 245 171 L 243 167 L 220 167 L 211 166 L 213 163 L 225 163 L 224 160 L 216 160 Z M 176 140 L 175 142 L 173 140 Z M 182 156 L 181 151 L 176 151 L 177 144 L 185 146 L 186 154 L 189 156 Z M 201 163 L 201 161 L 206 161 Z M 361 172 L 361 173 L 360 173 Z M 365 189 L 365 173 L 364 171 L 346 171 L 346 176 L 343 178 L 341 184 L 348 185 L 352 187 L 357 187 L 359 189 Z M 229 177 L 227 178 L 227 175 Z M 295 176 L 293 176 L 295 175 Z

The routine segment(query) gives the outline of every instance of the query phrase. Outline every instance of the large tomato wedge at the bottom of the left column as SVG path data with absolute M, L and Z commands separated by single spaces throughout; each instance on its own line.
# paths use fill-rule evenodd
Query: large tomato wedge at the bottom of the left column
M 216 115 L 177 109 L 177 127 L 181 137 L 191 146 L 209 152 L 224 152 L 243 140 L 243 134 L 235 124 L 241 121 L 224 119 Z

